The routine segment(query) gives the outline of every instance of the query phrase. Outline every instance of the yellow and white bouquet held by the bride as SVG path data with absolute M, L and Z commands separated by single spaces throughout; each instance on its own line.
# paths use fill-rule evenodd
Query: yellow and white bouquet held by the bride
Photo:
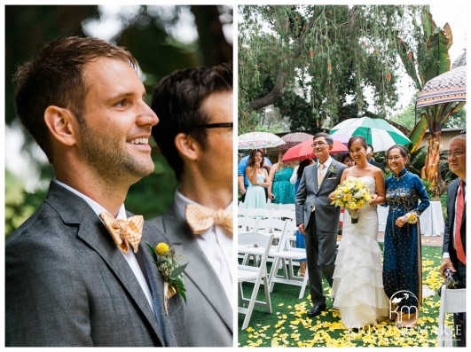
M 344 207 L 349 212 L 351 223 L 358 223 L 358 209 L 370 204 L 372 196 L 366 185 L 359 179 L 347 179 L 334 191 L 332 205 Z

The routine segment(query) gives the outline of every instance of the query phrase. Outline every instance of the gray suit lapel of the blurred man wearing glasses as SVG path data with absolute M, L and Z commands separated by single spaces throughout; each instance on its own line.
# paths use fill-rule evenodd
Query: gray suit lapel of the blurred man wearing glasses
M 200 290 L 200 293 L 213 306 L 217 314 L 223 319 L 225 325 L 231 327 L 232 330 L 232 310 L 231 303 L 227 300 L 224 287 L 220 281 L 216 279 L 216 272 L 208 262 L 205 254 L 200 246 L 193 239 L 192 232 L 186 225 L 177 218 L 174 212 L 168 213 L 168 217 L 163 218 L 163 226 L 166 233 L 177 233 L 178 238 L 172 238 L 172 246 L 176 253 L 184 253 L 184 262 L 188 262 L 188 266 L 184 270 L 185 279 L 192 280 L 194 286 Z M 180 225 L 178 225 L 180 223 Z M 208 272 L 208 275 L 201 275 L 201 272 Z

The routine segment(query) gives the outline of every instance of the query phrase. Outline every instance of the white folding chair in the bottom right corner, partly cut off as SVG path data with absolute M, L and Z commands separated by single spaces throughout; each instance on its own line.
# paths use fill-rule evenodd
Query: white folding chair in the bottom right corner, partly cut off
M 445 314 L 462 312 L 466 312 L 466 288 L 448 289 L 442 286 L 436 347 L 453 346 L 453 329 L 444 324 Z

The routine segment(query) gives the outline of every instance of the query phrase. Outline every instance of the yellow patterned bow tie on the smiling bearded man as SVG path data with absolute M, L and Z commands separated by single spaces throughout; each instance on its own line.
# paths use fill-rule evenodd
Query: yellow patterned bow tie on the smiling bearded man
M 113 215 L 104 211 L 99 217 L 122 253 L 128 253 L 130 245 L 134 247 L 134 253 L 137 253 L 144 226 L 142 215 L 131 216 L 126 220 L 116 220 Z

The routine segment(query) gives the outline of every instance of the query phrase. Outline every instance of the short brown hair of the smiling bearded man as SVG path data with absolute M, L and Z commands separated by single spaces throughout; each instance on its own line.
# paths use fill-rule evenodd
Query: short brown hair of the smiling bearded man
M 98 38 L 69 36 L 45 44 L 14 75 L 16 112 L 51 163 L 51 136 L 44 111 L 48 106 L 67 108 L 83 123 L 87 93 L 83 69 L 99 58 L 122 59 L 137 67 L 136 59 L 121 47 Z

